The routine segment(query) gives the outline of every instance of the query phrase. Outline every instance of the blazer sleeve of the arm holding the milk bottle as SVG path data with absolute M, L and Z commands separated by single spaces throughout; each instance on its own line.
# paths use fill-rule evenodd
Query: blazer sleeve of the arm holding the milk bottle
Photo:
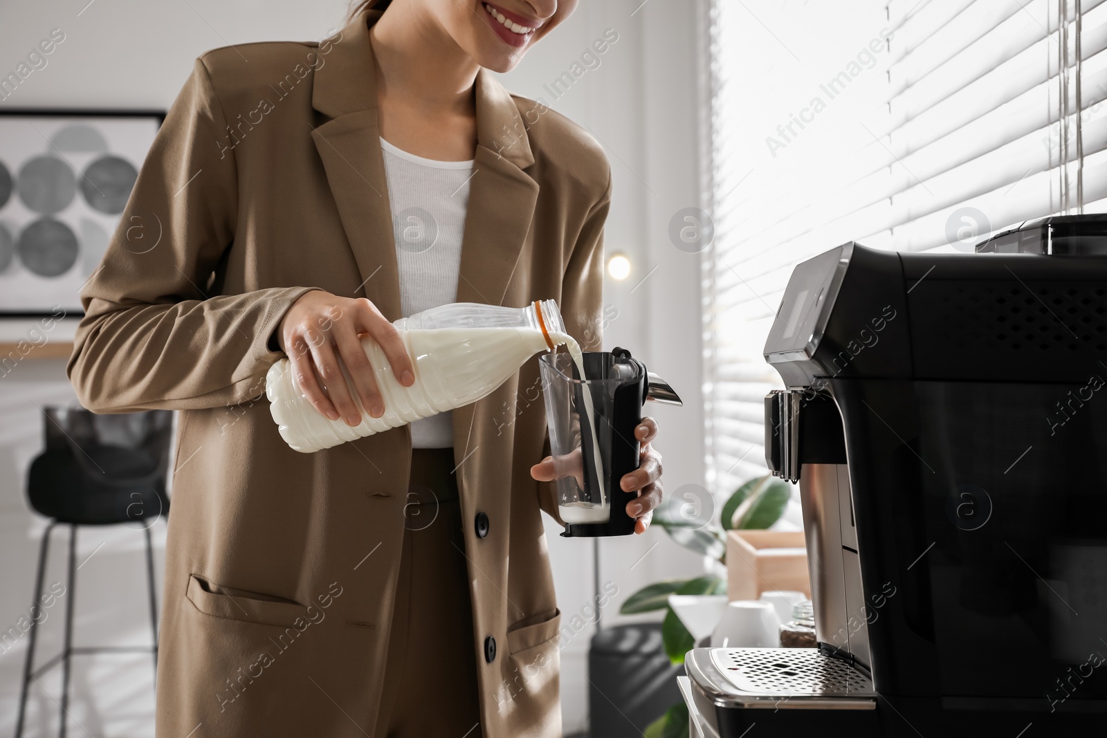
M 234 405 L 282 356 L 269 337 L 310 287 L 206 292 L 235 239 L 238 174 L 203 58 L 166 115 L 100 269 L 66 373 L 96 413 Z

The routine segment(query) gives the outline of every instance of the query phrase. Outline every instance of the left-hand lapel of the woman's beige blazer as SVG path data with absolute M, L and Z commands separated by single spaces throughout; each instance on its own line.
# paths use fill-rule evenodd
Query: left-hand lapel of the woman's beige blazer
M 346 297 L 369 298 L 394 321 L 401 318 L 400 272 L 369 42 L 369 27 L 380 15 L 371 10 L 342 29 L 327 63 L 315 71 L 312 106 L 330 119 L 312 128 L 311 138 L 361 273 L 361 285 Z

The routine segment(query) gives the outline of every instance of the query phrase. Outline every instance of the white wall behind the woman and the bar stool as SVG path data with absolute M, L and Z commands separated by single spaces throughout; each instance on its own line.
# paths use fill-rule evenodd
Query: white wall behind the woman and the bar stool
M 66 39 L 17 94 L 0 107 L 167 107 L 203 51 L 228 43 L 270 39 L 318 39 L 340 25 L 345 2 L 269 0 L 69 0 L 0 4 L 0 70 L 14 67 L 24 49 L 61 28 Z M 693 3 L 681 0 L 582 0 L 565 25 L 532 50 L 505 84 L 592 129 L 612 164 L 614 194 L 607 249 L 633 263 L 623 282 L 608 281 L 604 301 L 611 320 L 604 347 L 622 345 L 681 393 L 683 408 L 656 408 L 662 424 L 658 446 L 665 457 L 665 486 L 703 485 L 702 381 L 700 362 L 699 257 L 670 242 L 673 214 L 697 205 L 699 101 L 697 42 Z M 613 29 L 619 39 L 572 87 L 555 100 L 544 87 L 570 71 L 591 43 Z M 652 270 L 652 273 L 651 273 Z M 649 277 L 642 281 L 643 278 Z M 0 340 L 18 325 L 0 325 Z M 60 334 L 59 334 L 60 335 Z M 72 398 L 61 361 L 24 362 L 0 380 L 0 626 L 14 624 L 30 604 L 37 542 L 42 528 L 23 499 L 28 464 L 41 446 L 35 407 Z M 653 408 L 651 408 L 653 409 Z M 587 615 L 592 592 L 592 544 L 548 531 L 560 607 L 566 622 Z M 157 531 L 164 537 L 162 527 Z M 54 563 L 64 547 L 58 537 Z M 141 644 L 148 638 L 143 603 L 141 536 L 130 529 L 82 537 L 76 593 L 79 645 Z M 104 543 L 102 548 L 96 547 Z M 606 540 L 601 582 L 619 595 L 603 610 L 617 622 L 618 606 L 634 590 L 663 578 L 700 573 L 700 561 L 674 545 L 661 530 Z M 82 555 L 83 553 L 83 555 Z M 60 578 L 52 568 L 48 581 Z M 60 643 L 52 613 L 41 637 Z M 580 621 L 577 621 L 580 622 Z M 54 626 L 53 628 L 51 626 Z M 587 717 L 588 625 L 562 651 L 566 732 L 582 729 Z M 24 638 L 25 640 L 25 638 Z M 23 644 L 0 654 L 0 730 L 14 724 Z M 152 735 L 148 658 L 97 656 L 79 659 L 76 703 L 71 713 L 92 735 Z M 43 679 L 56 696 L 58 679 Z M 53 716 L 56 705 L 42 690 L 32 716 Z M 76 730 L 75 726 L 73 727 Z M 33 731 L 29 735 L 35 735 Z M 43 734 L 45 735 L 45 734 Z

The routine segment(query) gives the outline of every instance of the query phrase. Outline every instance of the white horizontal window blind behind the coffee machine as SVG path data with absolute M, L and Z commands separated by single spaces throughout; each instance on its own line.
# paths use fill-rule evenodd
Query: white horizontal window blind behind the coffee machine
M 971 250 L 1107 211 L 1107 2 L 712 0 L 706 468 L 765 472 L 762 349 L 793 267 L 849 240 Z

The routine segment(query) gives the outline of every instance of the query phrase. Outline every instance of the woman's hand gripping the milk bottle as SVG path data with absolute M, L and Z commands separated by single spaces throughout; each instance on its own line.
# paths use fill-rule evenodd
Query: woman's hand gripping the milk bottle
M 342 376 L 345 364 L 362 407 L 384 415 L 384 401 L 359 334 L 368 333 L 384 351 L 392 373 L 405 387 L 415 382 L 407 350 L 396 328 L 366 298 L 340 298 L 322 290 L 306 292 L 281 319 L 277 340 L 292 363 L 292 376 L 312 406 L 331 420 L 349 426 L 361 413 Z

